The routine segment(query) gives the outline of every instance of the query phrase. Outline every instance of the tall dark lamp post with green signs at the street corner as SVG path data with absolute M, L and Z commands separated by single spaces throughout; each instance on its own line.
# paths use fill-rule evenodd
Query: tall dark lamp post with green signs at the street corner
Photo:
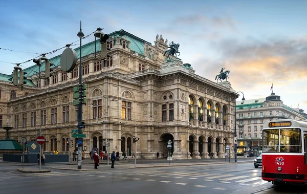
M 82 134 L 82 128 L 79 126 L 82 125 L 82 101 L 80 97 L 82 96 L 82 65 L 81 65 L 81 43 L 82 43 L 82 38 L 84 36 L 81 28 L 81 21 L 80 21 L 80 31 L 78 32 L 77 36 L 80 38 L 80 55 L 79 55 L 79 105 L 78 105 L 78 134 Z M 82 138 L 78 138 L 78 169 L 81 169 L 81 149 L 82 149 Z

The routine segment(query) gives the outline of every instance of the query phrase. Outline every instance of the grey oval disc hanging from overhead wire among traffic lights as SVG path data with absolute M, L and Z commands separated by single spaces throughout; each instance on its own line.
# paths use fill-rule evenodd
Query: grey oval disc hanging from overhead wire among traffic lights
M 74 70 L 77 62 L 77 54 L 74 49 L 67 48 L 61 55 L 61 68 L 64 72 L 71 72 Z

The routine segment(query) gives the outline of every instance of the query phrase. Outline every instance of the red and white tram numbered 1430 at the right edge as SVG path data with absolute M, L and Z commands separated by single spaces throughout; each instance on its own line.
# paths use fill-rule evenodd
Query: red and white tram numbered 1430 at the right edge
M 275 185 L 307 182 L 307 122 L 266 122 L 262 131 L 262 180 Z

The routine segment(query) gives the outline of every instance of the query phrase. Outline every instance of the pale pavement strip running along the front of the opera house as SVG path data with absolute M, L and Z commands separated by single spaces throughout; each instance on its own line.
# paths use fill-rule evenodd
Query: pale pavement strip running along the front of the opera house
M 238 158 L 237 163 L 252 163 L 255 157 L 252 158 Z M 165 159 L 137 159 L 135 166 L 134 159 L 115 161 L 115 169 L 131 169 L 131 168 L 151 168 L 151 167 L 174 167 L 174 166 L 191 166 L 191 165 L 215 165 L 215 164 L 234 164 L 234 159 L 225 162 L 225 158 L 218 159 L 192 159 L 192 160 L 171 160 L 170 165 L 168 165 L 168 160 Z M 2 163 L 3 164 L 3 163 Z M 0 166 L 2 166 L 0 163 Z M 4 164 L 21 166 L 21 163 L 5 162 Z M 102 170 L 115 170 L 111 169 L 112 162 L 109 161 L 107 165 L 106 160 L 100 160 L 99 167 L 97 171 Z M 29 169 L 32 173 L 40 173 L 37 164 L 24 164 L 24 166 Z M 43 170 L 78 170 L 78 171 L 89 171 L 94 169 L 94 161 L 91 159 L 82 160 L 82 169 L 77 169 L 78 165 L 76 161 L 71 161 L 70 163 L 46 163 L 46 165 L 41 166 Z M 18 168 L 25 169 L 25 168 Z M 20 170 L 19 170 L 20 171 Z M 29 172 L 27 172 L 29 173 Z

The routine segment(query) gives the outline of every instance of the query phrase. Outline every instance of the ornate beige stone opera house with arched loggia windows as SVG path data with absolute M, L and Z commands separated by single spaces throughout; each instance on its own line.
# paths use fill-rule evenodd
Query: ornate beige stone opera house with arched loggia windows
M 87 84 L 82 113 L 86 153 L 93 148 L 106 150 L 107 139 L 109 152 L 125 151 L 131 156 L 137 136 L 138 158 L 155 158 L 157 152 L 167 157 L 168 140 L 173 159 L 208 158 L 208 152 L 224 157 L 226 146 L 233 144 L 237 98 L 230 83 L 218 84 L 196 75 L 180 59 L 164 62 L 167 40 L 162 35 L 157 35 L 154 45 L 123 30 L 109 35 L 111 57 L 103 61 L 99 53 L 82 56 L 82 82 Z M 0 99 L 0 115 L 14 127 L 11 137 L 35 141 L 41 130 L 47 140 L 45 152 L 72 152 L 78 113 L 72 103 L 73 87 L 78 84 L 78 71 L 76 67 L 65 73 L 57 66 L 48 80 L 33 73 L 27 78 L 36 87 L 24 85 L 23 90 L 0 82 L 5 94 Z M 15 98 L 4 92 L 12 90 L 17 92 Z M 68 138 L 73 146 L 66 144 Z

